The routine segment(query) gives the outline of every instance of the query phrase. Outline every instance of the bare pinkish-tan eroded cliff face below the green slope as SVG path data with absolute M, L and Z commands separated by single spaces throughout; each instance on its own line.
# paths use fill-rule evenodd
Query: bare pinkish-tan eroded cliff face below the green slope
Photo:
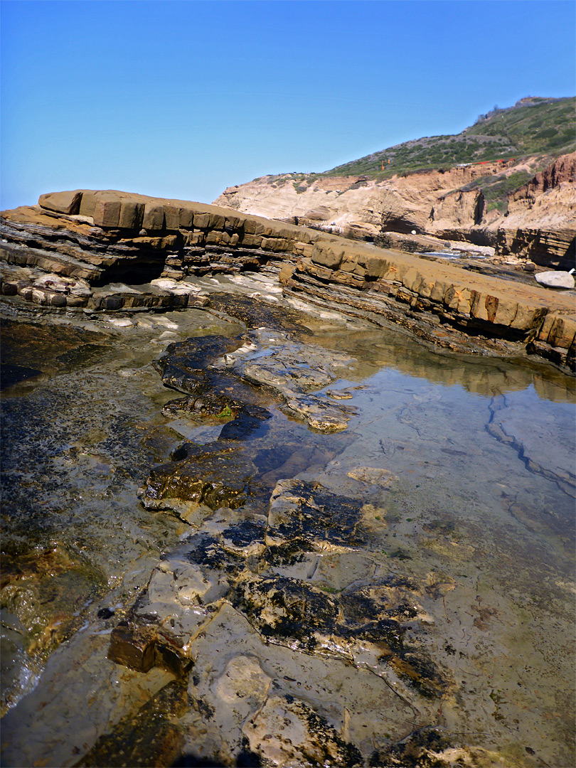
M 217 205 L 336 234 L 374 239 L 382 233 L 418 233 L 495 247 L 541 266 L 570 269 L 576 237 L 576 154 L 559 157 L 512 194 L 508 213 L 489 210 L 485 177 L 528 170 L 522 162 L 483 163 L 430 170 L 378 181 L 367 177 L 298 180 L 266 176 L 228 187 Z

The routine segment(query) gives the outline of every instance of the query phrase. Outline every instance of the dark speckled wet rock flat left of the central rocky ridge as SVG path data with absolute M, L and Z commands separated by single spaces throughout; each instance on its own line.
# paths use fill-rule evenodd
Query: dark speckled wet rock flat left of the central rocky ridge
M 136 498 L 151 462 L 178 440 L 159 419 L 166 398 L 150 366 L 165 323 L 178 327 L 164 316 L 121 332 L 2 318 L 2 368 L 38 370 L 3 389 L 2 712 L 104 594 L 110 615 L 121 613 L 177 541 L 177 521 L 143 516 Z

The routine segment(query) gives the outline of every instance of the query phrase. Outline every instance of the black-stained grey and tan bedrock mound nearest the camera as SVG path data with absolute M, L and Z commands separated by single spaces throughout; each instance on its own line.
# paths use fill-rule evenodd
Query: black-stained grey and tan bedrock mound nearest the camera
M 382 568 L 371 510 L 296 479 L 263 514 L 220 508 L 154 569 L 108 658 L 187 679 L 180 730 L 204 759 L 366 764 L 384 721 L 423 727 L 455 693 L 429 653 L 429 584 Z

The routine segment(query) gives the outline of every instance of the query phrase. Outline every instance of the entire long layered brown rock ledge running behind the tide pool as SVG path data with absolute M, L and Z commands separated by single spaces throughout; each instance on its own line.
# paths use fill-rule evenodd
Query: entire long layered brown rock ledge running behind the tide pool
M 558 189 L 548 187 L 544 194 Z M 476 210 L 478 200 L 468 197 L 462 204 Z M 201 306 L 208 300 L 198 296 L 194 277 L 277 272 L 282 266 L 291 296 L 328 302 L 380 324 L 399 323 L 449 349 L 528 351 L 564 369 L 574 367 L 573 291 L 475 274 L 453 263 L 236 210 L 74 190 L 5 211 L 0 234 L 5 300 L 36 304 L 42 311 Z

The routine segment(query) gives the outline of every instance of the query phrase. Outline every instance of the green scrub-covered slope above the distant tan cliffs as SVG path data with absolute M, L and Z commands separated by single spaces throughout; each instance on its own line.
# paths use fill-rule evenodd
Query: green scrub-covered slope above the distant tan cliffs
M 540 155 L 545 165 L 548 157 L 576 150 L 575 108 L 574 97 L 521 99 L 513 107 L 480 115 L 460 134 L 405 141 L 318 175 L 386 179 L 417 170 L 530 155 Z

